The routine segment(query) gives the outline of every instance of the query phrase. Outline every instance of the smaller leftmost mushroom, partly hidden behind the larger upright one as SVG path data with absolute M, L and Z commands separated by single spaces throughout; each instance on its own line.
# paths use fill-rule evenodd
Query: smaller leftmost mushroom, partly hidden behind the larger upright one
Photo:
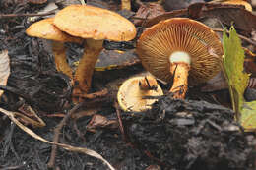
M 83 39 L 62 32 L 53 25 L 53 20 L 53 18 L 48 18 L 36 22 L 27 28 L 26 33 L 29 36 L 52 40 L 52 52 L 55 58 L 56 69 L 72 78 L 72 69 L 66 60 L 64 42 L 82 43 Z

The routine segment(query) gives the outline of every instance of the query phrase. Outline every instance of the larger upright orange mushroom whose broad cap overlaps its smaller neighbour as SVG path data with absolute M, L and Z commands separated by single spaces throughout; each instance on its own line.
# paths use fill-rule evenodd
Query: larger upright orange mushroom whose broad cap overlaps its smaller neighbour
M 73 36 L 86 39 L 84 54 L 74 78 L 79 83 L 73 90 L 73 95 L 77 96 L 88 93 L 91 88 L 103 40 L 128 41 L 136 36 L 136 28 L 124 17 L 89 5 L 70 5 L 64 8 L 56 14 L 54 25 Z

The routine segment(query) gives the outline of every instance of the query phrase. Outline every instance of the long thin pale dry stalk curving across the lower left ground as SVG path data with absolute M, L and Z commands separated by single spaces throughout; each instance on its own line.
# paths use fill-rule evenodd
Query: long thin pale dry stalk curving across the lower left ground
M 57 142 L 49 142 L 43 138 L 41 138 L 40 136 L 38 136 L 37 134 L 35 134 L 31 129 L 29 129 L 28 127 L 24 126 L 21 122 L 19 122 L 16 118 L 15 118 L 15 113 L 16 112 L 10 112 L 8 110 L 5 110 L 3 108 L 0 108 L 0 112 L 4 113 L 5 115 L 7 115 L 18 127 L 20 127 L 23 131 L 25 131 L 26 133 L 28 133 L 29 135 L 31 135 L 34 139 L 39 140 L 41 142 L 47 142 L 50 144 L 55 144 L 58 146 L 63 147 L 66 150 L 69 151 L 76 151 L 76 152 L 80 152 L 80 153 L 84 153 L 93 157 L 96 157 L 97 159 L 100 159 L 101 161 L 103 161 L 108 168 L 110 168 L 111 170 L 115 170 L 114 167 L 108 163 L 100 154 L 98 154 L 96 151 L 85 148 L 85 147 L 74 147 L 68 144 L 63 144 L 63 143 L 57 143 Z

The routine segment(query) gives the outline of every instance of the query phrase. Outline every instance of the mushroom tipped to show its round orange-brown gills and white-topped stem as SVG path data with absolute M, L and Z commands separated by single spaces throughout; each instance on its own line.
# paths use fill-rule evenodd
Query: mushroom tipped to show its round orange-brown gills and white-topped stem
M 188 82 L 204 83 L 221 70 L 223 47 L 217 34 L 204 24 L 172 18 L 145 30 L 136 52 L 155 77 L 168 83 L 174 77 L 169 91 L 174 98 L 184 98 Z

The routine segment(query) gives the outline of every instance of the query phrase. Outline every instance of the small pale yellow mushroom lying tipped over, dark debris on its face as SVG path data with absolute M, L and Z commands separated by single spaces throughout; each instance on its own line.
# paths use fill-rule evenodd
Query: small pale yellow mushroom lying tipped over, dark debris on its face
M 152 76 L 137 76 L 126 80 L 117 93 L 117 101 L 124 111 L 141 112 L 150 109 L 158 99 L 146 96 L 160 96 L 163 92 Z

